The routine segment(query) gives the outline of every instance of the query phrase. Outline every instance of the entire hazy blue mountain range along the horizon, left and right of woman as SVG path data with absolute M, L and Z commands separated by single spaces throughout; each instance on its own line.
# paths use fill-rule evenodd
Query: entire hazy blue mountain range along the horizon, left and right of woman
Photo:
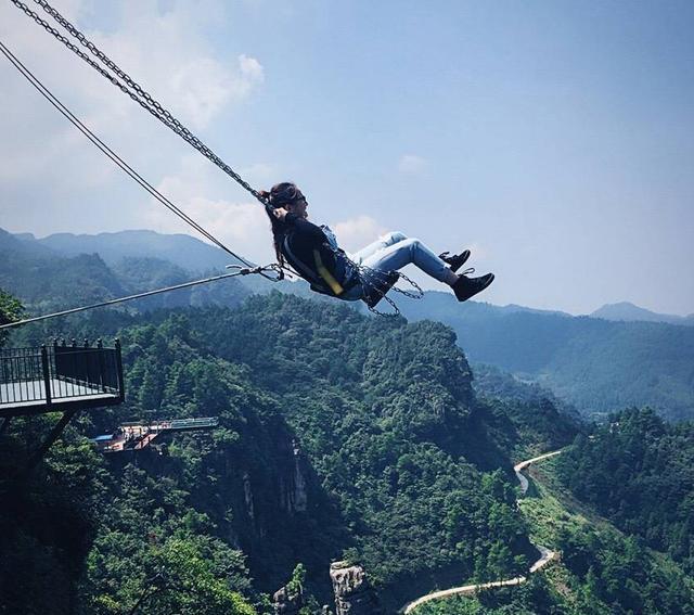
M 43 239 L 0 231 L 0 286 L 33 313 L 181 283 L 203 271 L 222 271 L 229 262 L 222 251 L 191 236 L 153 231 Z M 248 277 L 151 297 L 128 309 L 236 305 L 274 289 L 310 294 L 301 282 L 270 284 Z M 396 300 L 411 321 L 451 326 L 472 362 L 540 383 L 584 414 L 648 405 L 669 419 L 694 415 L 694 328 L 681 326 L 692 324 L 692 317 L 656 315 L 631 304 L 574 317 L 517 305 L 461 305 L 441 292 L 427 292 L 420 302 Z

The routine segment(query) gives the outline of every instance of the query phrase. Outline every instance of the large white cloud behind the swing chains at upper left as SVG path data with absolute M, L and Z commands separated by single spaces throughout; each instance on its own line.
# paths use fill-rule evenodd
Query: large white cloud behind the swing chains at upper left
M 60 9 L 193 130 L 210 127 L 264 81 L 262 65 L 257 59 L 245 54 L 224 57 L 210 47 L 207 28 L 226 10 L 221 1 L 206 3 L 205 11 L 182 2 L 167 4 L 164 10 L 155 0 L 125 0 L 108 9 L 91 0 L 67 0 Z M 103 17 L 104 13 L 110 15 L 107 30 L 90 26 L 94 23 L 91 16 Z M 10 3 L 0 5 L 0 39 L 143 175 L 156 177 L 170 164 L 170 143 L 176 137 L 168 136 L 138 104 Z M 105 162 L 2 60 L 3 192 L 22 194 L 40 181 L 47 187 L 47 196 L 55 198 L 59 207 L 64 194 L 74 193 L 77 184 L 85 181 L 92 187 L 101 182 L 106 188 L 116 176 L 108 168 L 112 163 Z M 187 148 L 182 143 L 180 146 Z M 44 198 L 42 205 L 48 205 Z

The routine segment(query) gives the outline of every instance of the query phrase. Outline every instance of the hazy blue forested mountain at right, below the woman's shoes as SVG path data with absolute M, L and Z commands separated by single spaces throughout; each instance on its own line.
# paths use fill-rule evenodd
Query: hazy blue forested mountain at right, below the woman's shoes
M 444 293 L 401 308 L 450 325 L 473 363 L 535 380 L 583 413 L 648 405 L 672 420 L 694 414 L 694 328 L 461 306 Z

